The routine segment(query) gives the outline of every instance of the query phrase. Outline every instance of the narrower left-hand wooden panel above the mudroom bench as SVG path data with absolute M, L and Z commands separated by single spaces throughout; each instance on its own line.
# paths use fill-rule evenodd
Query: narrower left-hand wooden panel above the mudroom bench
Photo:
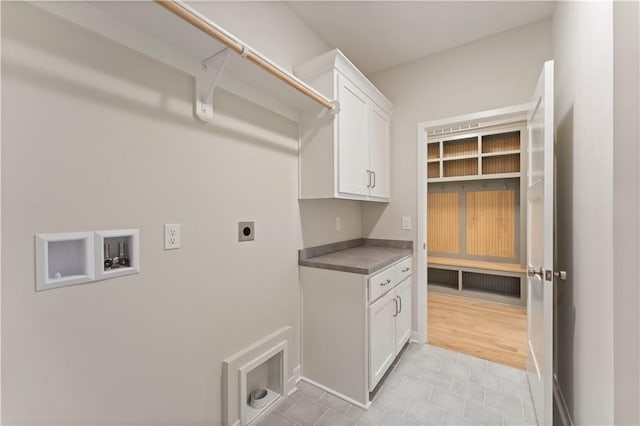
M 427 195 L 427 246 L 433 253 L 460 252 L 460 194 Z

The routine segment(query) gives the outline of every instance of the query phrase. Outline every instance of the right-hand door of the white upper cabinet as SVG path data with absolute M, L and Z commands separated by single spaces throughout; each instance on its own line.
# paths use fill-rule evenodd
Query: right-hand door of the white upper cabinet
M 379 198 L 391 197 L 391 117 L 376 104 L 371 104 L 371 144 L 369 164 L 374 173 L 371 195 Z

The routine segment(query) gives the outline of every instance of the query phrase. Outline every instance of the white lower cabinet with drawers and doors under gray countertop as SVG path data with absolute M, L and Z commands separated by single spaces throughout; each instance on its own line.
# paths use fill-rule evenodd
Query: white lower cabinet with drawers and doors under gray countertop
M 300 267 L 304 380 L 369 405 L 411 336 L 411 262 L 370 276 Z

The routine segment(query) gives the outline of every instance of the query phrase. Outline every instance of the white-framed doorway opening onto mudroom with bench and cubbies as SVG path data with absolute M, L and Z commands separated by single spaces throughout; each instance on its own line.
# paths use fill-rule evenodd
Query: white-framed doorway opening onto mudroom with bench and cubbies
M 527 359 L 520 206 L 528 108 L 418 125 L 418 262 L 427 266 L 418 268 L 419 341 L 519 369 Z

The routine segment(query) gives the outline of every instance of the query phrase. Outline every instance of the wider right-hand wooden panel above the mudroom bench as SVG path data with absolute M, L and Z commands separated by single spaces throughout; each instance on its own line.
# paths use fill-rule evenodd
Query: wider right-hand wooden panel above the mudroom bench
M 515 257 L 515 196 L 514 190 L 467 192 L 468 255 Z

